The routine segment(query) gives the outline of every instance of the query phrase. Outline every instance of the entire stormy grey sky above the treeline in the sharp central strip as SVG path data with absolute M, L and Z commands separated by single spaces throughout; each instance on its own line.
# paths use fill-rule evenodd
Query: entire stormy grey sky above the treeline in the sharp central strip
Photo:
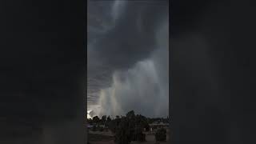
M 167 1 L 88 1 L 90 116 L 169 114 Z

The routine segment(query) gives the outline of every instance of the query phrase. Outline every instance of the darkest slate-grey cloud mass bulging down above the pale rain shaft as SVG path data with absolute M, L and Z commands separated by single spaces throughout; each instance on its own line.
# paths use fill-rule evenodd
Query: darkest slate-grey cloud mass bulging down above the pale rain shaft
M 155 48 L 154 33 L 167 17 L 167 2 L 126 2 L 125 10 L 94 45 L 98 58 L 113 69 L 127 69 Z

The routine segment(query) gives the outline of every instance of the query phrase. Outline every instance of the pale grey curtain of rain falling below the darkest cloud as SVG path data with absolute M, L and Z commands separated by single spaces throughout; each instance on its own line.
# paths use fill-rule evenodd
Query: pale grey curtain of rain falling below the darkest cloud
M 167 20 L 166 20 L 167 21 Z M 147 117 L 166 117 L 169 99 L 168 22 L 156 34 L 156 50 L 128 70 L 117 70 L 110 88 L 101 90 L 97 114 L 126 114 L 134 110 Z

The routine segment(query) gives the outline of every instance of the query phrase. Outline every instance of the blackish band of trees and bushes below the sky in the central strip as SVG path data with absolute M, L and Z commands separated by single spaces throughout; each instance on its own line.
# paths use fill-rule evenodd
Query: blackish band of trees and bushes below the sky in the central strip
M 146 118 L 141 114 L 134 114 L 134 110 L 131 110 L 126 116 L 116 116 L 113 119 L 110 116 L 106 118 L 105 115 L 101 119 L 98 116 L 88 119 L 92 131 L 111 130 L 116 144 L 130 144 L 131 141 L 145 142 L 146 134 L 143 132 L 149 132 L 150 124 L 157 122 L 169 123 L 169 118 Z M 155 129 L 156 141 L 166 141 L 166 128 Z

